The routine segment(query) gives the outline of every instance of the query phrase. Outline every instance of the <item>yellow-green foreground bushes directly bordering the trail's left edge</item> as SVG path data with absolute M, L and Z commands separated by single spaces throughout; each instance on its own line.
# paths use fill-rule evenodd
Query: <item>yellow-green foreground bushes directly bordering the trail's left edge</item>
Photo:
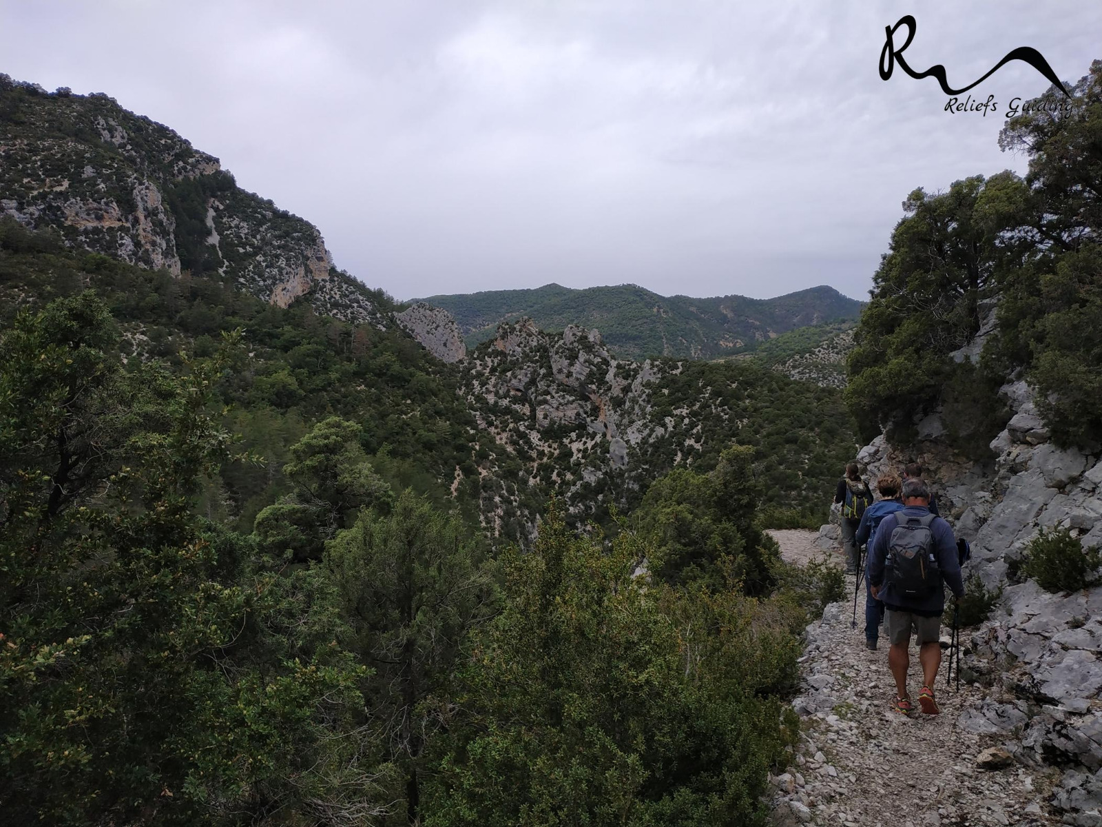
M 765 774 L 793 722 L 791 602 L 633 577 L 552 507 L 505 558 L 507 602 L 462 670 L 433 825 L 761 824 Z M 792 713 L 788 713 L 791 717 Z

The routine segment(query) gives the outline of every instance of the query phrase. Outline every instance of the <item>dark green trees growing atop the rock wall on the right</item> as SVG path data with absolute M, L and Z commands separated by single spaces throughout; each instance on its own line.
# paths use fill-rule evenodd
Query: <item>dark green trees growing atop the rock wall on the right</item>
M 950 438 L 983 457 L 1006 420 L 997 387 L 1022 372 L 1057 443 L 1102 442 L 1102 62 L 1070 92 L 1066 109 L 1049 89 L 1003 128 L 1000 146 L 1029 158 L 1025 178 L 976 175 L 904 202 L 850 362 L 865 436 L 888 426 L 905 439 L 940 407 Z M 979 364 L 954 359 L 991 313 Z

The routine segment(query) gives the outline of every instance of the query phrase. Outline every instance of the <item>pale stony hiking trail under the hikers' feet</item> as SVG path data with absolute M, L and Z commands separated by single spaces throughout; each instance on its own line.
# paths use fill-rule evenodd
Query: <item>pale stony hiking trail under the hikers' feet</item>
M 823 552 L 810 530 L 770 531 L 781 556 L 806 565 Z M 890 708 L 895 683 L 887 666 L 887 642 L 865 647 L 864 587 L 857 598 L 857 627 L 851 627 L 854 578 L 845 578 L 850 599 L 827 606 L 807 630 L 800 658 L 802 681 L 792 707 L 801 719 L 792 766 L 774 778 L 774 824 L 845 827 L 926 827 L 929 825 L 1060 824 L 1045 802 L 1059 774 L 1026 767 L 1002 751 L 997 734 L 977 734 L 961 726 L 974 716 L 984 689 L 963 681 L 946 685 L 948 653 L 933 691 L 939 716 L 906 718 Z M 948 617 L 948 615 L 947 615 Z M 949 629 L 943 626 L 943 640 Z M 921 677 L 911 644 L 910 692 L 918 697 Z M 955 681 L 954 681 L 955 685 Z M 917 704 L 916 704 L 917 706 Z M 1005 738 L 1005 735 L 1003 735 Z M 994 748 L 996 766 L 984 769 Z M 1001 759 L 1001 760 L 1000 760 Z

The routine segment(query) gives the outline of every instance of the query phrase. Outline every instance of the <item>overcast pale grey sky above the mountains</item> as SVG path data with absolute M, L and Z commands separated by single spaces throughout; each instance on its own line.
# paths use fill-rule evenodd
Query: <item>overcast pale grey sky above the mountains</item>
M 1005 105 L 1048 86 L 1011 63 L 972 90 L 996 115 L 947 114 L 880 80 L 884 26 L 915 14 L 909 64 L 955 86 L 1022 45 L 1067 80 L 1102 57 L 1102 3 L 916 6 L 0 0 L 0 72 L 172 127 L 399 299 L 865 298 L 908 192 L 1025 170 Z

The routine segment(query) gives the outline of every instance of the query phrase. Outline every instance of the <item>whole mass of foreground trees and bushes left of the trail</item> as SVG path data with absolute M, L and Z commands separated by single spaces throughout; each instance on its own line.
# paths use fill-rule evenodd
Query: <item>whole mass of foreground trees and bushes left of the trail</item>
M 48 239 L 6 239 L 24 276 L 74 264 Z M 499 569 L 454 511 L 387 484 L 360 426 L 325 416 L 250 531 L 206 516 L 212 480 L 261 462 L 225 426 L 246 342 L 123 361 L 90 289 L 4 322 L 11 823 L 764 823 L 815 595 L 792 591 L 756 528 L 752 449 L 694 477 L 712 495 L 676 551 L 677 475 L 611 546 L 552 503 L 534 548 Z M 649 559 L 660 569 L 637 577 Z

